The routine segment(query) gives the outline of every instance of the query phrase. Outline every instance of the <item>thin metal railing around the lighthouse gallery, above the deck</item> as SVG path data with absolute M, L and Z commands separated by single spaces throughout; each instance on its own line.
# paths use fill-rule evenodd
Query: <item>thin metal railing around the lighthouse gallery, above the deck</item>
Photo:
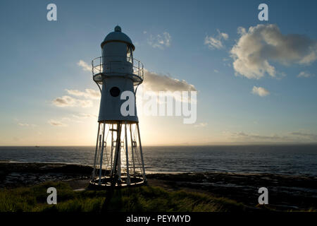
M 108 58 L 108 59 L 107 59 Z M 118 66 L 123 69 L 122 71 L 116 71 Z M 107 57 L 97 57 L 92 60 L 92 76 L 98 74 L 107 73 L 122 73 L 126 75 L 128 70 L 132 69 L 131 73 L 133 76 L 137 76 L 142 82 L 144 77 L 144 66 L 141 61 L 137 59 L 132 59 L 130 57 L 120 57 L 120 56 L 107 56 Z

